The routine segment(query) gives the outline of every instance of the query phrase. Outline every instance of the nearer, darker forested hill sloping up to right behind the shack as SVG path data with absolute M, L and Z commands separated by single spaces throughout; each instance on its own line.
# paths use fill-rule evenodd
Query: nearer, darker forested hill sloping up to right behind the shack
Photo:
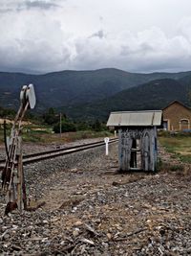
M 64 110 L 74 119 L 80 119 L 81 112 L 87 119 L 98 117 L 106 120 L 111 111 L 157 110 L 175 100 L 184 105 L 191 105 L 191 83 L 184 82 L 189 80 L 191 81 L 191 76 L 178 81 L 172 79 L 149 81 L 120 91 L 94 104 L 80 105 L 80 108 L 79 105 L 73 105 Z

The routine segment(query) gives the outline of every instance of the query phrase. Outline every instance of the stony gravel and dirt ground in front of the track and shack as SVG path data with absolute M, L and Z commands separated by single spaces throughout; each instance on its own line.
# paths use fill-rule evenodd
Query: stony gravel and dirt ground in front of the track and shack
M 118 174 L 117 145 L 104 151 L 26 166 L 32 202 L 46 204 L 4 217 L 0 197 L 0 254 L 191 254 L 190 170 Z

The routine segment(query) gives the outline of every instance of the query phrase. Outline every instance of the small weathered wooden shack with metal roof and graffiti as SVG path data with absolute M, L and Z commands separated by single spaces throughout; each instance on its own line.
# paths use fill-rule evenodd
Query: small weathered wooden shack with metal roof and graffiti
M 118 130 L 120 171 L 156 171 L 161 110 L 112 112 L 107 127 Z

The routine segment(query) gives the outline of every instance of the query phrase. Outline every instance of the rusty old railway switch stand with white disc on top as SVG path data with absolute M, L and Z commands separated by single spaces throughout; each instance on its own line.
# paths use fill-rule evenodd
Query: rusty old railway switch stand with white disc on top
M 2 188 L 6 194 L 6 211 L 18 208 L 22 213 L 23 208 L 27 208 L 27 198 L 25 190 L 25 178 L 23 172 L 23 152 L 22 152 L 22 120 L 29 108 L 34 108 L 36 103 L 34 88 L 32 84 L 24 85 L 20 92 L 20 107 L 15 116 L 9 145 L 6 145 L 7 158 L 2 172 Z M 5 143 L 7 139 L 5 139 Z

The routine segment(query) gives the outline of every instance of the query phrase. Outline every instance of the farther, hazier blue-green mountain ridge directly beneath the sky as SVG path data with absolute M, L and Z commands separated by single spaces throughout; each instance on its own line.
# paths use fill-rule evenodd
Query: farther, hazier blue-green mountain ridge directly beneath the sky
M 93 102 L 96 105 L 97 101 L 138 84 L 165 78 L 178 80 L 190 74 L 191 72 L 138 74 L 114 68 L 61 71 L 45 75 L 0 72 L 0 106 L 17 108 L 20 88 L 29 83 L 34 84 L 36 110 L 39 112 L 51 106 L 69 108 L 76 104 Z M 120 98 L 121 95 L 117 97 Z M 116 105 L 116 108 L 118 107 Z

